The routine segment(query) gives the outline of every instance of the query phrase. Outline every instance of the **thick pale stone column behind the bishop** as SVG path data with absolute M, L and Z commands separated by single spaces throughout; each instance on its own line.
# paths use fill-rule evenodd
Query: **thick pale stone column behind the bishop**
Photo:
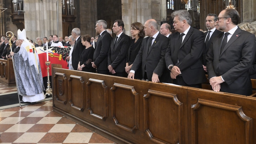
M 24 0 L 24 21 L 27 37 L 33 41 L 36 37 L 62 36 L 61 0 Z

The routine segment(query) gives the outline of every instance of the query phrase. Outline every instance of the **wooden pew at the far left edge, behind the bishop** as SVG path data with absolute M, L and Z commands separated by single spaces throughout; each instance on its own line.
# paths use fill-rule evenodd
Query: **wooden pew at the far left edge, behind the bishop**
M 0 81 L 8 86 L 16 84 L 12 59 L 0 59 Z

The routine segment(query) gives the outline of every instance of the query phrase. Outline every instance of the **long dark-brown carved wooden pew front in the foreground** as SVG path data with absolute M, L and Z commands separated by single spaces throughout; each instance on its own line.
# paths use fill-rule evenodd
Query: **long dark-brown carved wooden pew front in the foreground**
M 53 110 L 118 144 L 256 143 L 255 97 L 56 67 Z

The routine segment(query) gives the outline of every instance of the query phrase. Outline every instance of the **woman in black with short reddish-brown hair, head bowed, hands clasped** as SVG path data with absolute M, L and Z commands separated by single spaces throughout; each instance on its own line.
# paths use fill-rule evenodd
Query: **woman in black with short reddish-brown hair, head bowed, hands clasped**
M 91 36 L 83 35 L 81 36 L 81 43 L 85 46 L 84 51 L 80 55 L 79 63 L 78 63 L 78 70 L 87 71 L 87 72 L 94 72 L 94 68 L 92 68 L 92 60 L 93 60 L 93 53 L 94 49 L 90 44 Z

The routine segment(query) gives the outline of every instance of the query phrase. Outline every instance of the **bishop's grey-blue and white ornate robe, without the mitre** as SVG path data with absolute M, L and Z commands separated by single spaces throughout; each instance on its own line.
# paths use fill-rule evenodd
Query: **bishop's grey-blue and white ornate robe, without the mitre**
M 33 44 L 23 41 L 20 51 L 13 56 L 16 84 L 24 102 L 43 100 L 44 83 L 38 54 Z

